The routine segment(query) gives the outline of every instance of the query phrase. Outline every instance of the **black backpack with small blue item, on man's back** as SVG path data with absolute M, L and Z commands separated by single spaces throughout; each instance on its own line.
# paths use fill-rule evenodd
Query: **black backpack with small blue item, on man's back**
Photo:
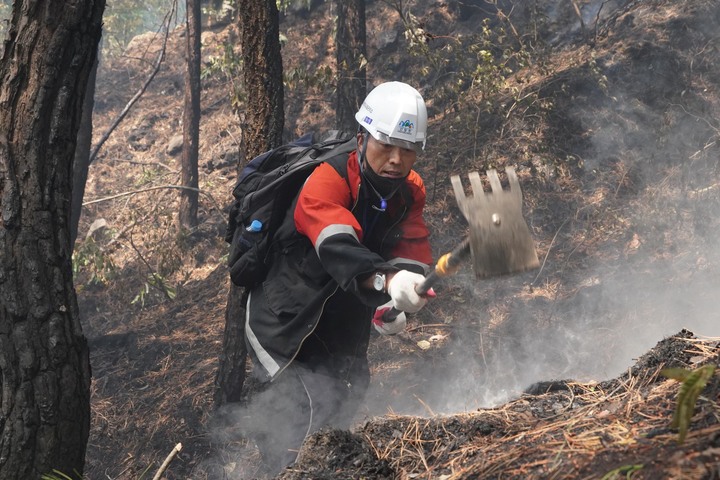
M 275 231 L 307 177 L 322 162 L 347 155 L 356 146 L 348 133 L 332 131 L 319 141 L 308 134 L 258 155 L 243 168 L 225 232 L 235 285 L 254 287 L 265 280 Z

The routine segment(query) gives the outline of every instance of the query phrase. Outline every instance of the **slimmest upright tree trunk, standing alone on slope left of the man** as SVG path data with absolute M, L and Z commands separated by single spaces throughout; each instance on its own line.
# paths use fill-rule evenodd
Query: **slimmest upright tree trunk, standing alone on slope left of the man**
M 200 141 L 200 0 L 187 0 L 187 70 L 183 112 L 182 185 L 180 193 L 181 228 L 198 224 L 198 148 Z

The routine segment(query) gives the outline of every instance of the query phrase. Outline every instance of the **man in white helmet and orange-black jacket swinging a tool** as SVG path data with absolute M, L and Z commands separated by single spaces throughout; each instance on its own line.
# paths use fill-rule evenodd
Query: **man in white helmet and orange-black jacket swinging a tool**
M 349 426 L 369 383 L 371 321 L 397 333 L 404 313 L 393 322 L 381 313 L 427 301 L 415 292 L 432 261 L 425 187 L 412 170 L 425 102 L 407 84 L 383 83 L 355 118 L 356 151 L 310 175 L 276 233 L 266 281 L 248 293 L 248 350 L 271 383 L 251 400 L 247 427 L 271 471 L 295 460 L 306 435 Z

